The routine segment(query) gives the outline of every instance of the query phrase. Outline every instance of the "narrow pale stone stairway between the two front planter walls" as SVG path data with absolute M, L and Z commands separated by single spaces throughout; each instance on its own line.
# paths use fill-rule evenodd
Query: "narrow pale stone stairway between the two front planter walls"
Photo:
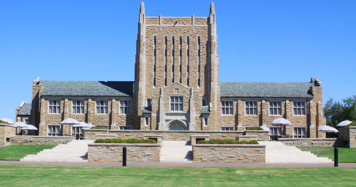
M 190 141 L 162 141 L 161 162 L 193 162 Z

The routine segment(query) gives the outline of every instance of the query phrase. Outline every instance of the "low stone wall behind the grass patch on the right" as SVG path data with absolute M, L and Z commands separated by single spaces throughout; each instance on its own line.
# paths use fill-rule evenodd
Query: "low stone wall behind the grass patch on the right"
M 278 141 L 287 146 L 344 146 L 344 140 L 336 138 L 279 138 Z

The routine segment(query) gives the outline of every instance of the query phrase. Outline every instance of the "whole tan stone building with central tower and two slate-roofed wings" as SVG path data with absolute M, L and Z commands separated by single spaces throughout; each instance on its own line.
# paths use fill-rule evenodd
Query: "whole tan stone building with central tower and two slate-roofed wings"
M 30 123 L 38 135 L 73 135 L 66 118 L 117 130 L 245 130 L 276 118 L 273 134 L 318 137 L 322 87 L 303 83 L 219 82 L 214 4 L 208 17 L 148 17 L 140 5 L 133 82 L 32 83 Z M 235 67 L 237 68 L 237 67 Z M 282 132 L 281 132 L 282 131 Z

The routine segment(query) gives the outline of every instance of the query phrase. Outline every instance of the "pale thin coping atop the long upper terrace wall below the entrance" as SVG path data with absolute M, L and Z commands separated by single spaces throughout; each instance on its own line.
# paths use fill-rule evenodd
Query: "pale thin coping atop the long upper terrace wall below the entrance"
M 109 131 L 109 132 L 142 132 L 142 133 L 244 133 L 244 130 L 106 130 L 106 129 L 84 129 L 84 131 Z M 261 130 L 262 131 L 262 130 Z M 269 132 L 269 131 L 265 131 Z

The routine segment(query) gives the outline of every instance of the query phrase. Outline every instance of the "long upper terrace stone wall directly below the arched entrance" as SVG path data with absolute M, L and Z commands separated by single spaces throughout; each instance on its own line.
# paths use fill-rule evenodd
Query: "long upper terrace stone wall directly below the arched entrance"
M 105 130 L 100 129 L 85 129 L 84 139 L 95 140 L 96 134 L 103 134 L 105 131 L 108 134 L 116 134 L 120 139 L 137 138 L 143 139 L 145 134 L 163 135 L 163 140 L 184 140 L 190 141 L 192 135 L 210 135 L 210 139 L 229 139 L 236 140 L 236 137 L 242 135 L 244 131 L 160 131 L 160 130 Z M 103 131 L 104 130 L 104 131 Z

